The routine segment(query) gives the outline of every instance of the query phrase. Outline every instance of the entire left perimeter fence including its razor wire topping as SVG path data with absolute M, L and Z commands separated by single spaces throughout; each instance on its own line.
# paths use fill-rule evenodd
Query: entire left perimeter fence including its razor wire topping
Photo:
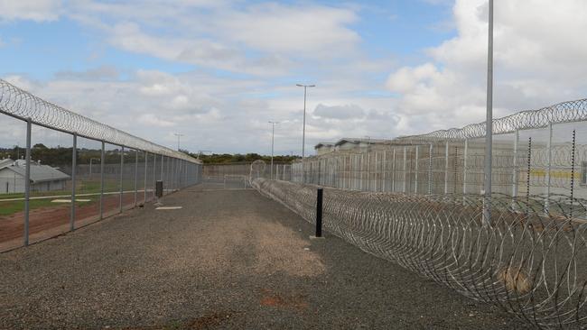
M 188 155 L 0 79 L 0 251 L 88 225 L 200 182 Z

